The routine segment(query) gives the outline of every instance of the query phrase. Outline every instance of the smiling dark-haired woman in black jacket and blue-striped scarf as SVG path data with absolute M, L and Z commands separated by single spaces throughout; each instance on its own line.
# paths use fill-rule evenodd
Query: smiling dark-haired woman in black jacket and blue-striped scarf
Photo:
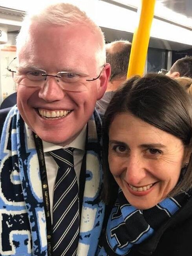
M 134 77 L 104 122 L 103 199 L 113 206 L 97 255 L 191 256 L 189 95 L 164 75 Z

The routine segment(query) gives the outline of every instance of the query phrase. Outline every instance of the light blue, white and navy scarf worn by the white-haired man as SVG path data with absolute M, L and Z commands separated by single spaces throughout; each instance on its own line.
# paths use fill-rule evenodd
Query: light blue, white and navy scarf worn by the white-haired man
M 99 200 L 102 169 L 97 113 L 88 121 L 86 183 L 77 256 L 93 256 L 104 219 Z M 0 255 L 47 256 L 46 218 L 33 132 L 25 129 L 18 109 L 5 120 L 0 142 Z

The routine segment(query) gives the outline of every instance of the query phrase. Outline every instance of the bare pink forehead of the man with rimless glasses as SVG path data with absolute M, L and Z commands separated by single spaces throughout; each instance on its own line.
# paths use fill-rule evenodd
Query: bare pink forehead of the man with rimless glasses
M 72 69 L 77 73 L 90 73 L 94 69 L 95 72 L 98 46 L 98 35 L 87 26 L 32 24 L 27 42 L 19 52 L 19 65 L 27 63 L 46 71 Z

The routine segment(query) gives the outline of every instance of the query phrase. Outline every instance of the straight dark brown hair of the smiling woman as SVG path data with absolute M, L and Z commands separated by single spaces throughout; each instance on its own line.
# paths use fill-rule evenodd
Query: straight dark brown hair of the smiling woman
M 189 150 L 192 145 L 192 101 L 176 80 L 156 73 L 127 80 L 114 94 L 104 116 L 102 199 L 106 203 L 115 197 L 118 189 L 108 164 L 108 132 L 114 117 L 123 112 L 131 113 L 146 123 L 176 136 Z M 169 196 L 191 187 L 192 157 L 187 171 Z

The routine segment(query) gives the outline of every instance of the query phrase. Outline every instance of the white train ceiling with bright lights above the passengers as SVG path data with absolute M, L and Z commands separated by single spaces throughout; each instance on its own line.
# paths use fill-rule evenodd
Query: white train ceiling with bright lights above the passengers
M 58 2 L 62 0 L 33 0 L 31 2 L 23 0 L 0 0 L 0 26 L 4 26 L 8 33 L 17 32 L 20 29 L 22 16 L 29 8 L 29 5 L 44 5 L 48 1 Z M 132 37 L 136 26 L 137 8 L 141 0 L 67 1 L 75 3 L 81 9 L 84 9 L 99 26 L 106 30 L 105 32 L 107 32 L 109 40 L 115 38 L 118 33 L 121 35 L 122 33 L 126 33 L 124 35 L 126 38 L 128 34 Z M 161 39 L 163 48 L 179 49 L 179 45 L 181 45 L 181 47 L 187 49 L 192 46 L 191 35 L 192 0 L 156 0 L 151 37 L 157 38 L 157 40 L 158 38 Z M 174 42 L 176 46 L 170 46 L 169 41 Z

